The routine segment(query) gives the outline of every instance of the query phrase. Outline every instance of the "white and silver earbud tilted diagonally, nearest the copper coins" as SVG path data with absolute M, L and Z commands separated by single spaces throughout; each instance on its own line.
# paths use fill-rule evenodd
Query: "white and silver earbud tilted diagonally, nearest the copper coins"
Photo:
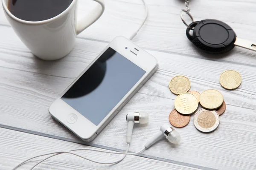
M 161 126 L 159 132 L 157 132 L 153 136 L 153 138 L 150 139 L 145 144 L 145 148 L 148 149 L 148 147 L 150 147 L 152 144 L 160 140 L 163 136 L 165 136 L 166 139 L 173 144 L 177 144 L 180 141 L 180 134 L 176 130 L 174 130 L 172 127 L 170 127 L 170 125 L 165 124 Z

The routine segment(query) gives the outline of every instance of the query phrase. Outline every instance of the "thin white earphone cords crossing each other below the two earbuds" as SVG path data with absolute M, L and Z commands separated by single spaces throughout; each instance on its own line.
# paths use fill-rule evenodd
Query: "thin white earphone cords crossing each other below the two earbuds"
M 127 151 L 126 151 L 126 152 L 115 152 L 115 151 L 104 151 L 104 150 L 94 150 L 94 149 L 79 148 L 79 149 L 74 149 L 74 150 L 70 150 L 70 151 L 60 151 L 60 152 L 47 153 L 47 154 L 43 154 L 43 155 L 39 155 L 39 156 L 34 156 L 34 157 L 30 158 L 30 159 L 27 159 L 27 160 L 23 161 L 22 163 L 18 164 L 18 165 L 17 165 L 15 168 L 13 168 L 12 170 L 16 170 L 16 169 L 17 169 L 18 167 L 20 167 L 22 164 L 26 163 L 27 161 L 29 161 L 29 160 L 31 160 L 31 159 L 35 159 L 35 158 L 37 158 L 37 157 L 46 156 L 46 155 L 51 155 L 51 154 L 55 154 L 55 155 L 53 155 L 53 156 L 56 156 L 56 155 L 61 154 L 61 153 L 70 153 L 70 154 L 79 156 L 79 157 L 81 157 L 81 158 L 83 158 L 83 159 L 86 159 L 86 160 L 88 160 L 88 161 L 93 161 L 93 160 L 91 160 L 91 159 L 84 158 L 84 157 L 82 157 L 82 156 L 80 156 L 80 155 L 77 155 L 77 154 L 75 154 L 75 153 L 71 153 L 72 151 L 76 151 L 76 150 L 90 150 L 90 151 L 96 151 L 96 152 L 102 152 L 102 153 L 122 154 L 122 155 L 125 155 L 125 156 L 126 156 L 126 155 L 135 155 L 135 154 L 141 153 L 141 152 L 143 152 L 143 151 L 145 150 L 145 148 L 143 148 L 142 150 L 140 150 L 140 151 L 138 151 L 138 152 L 135 152 L 135 153 L 127 153 L 127 152 L 128 152 L 128 148 L 129 148 L 129 144 L 127 145 Z M 99 164 L 114 164 L 114 163 L 118 163 L 118 162 L 122 161 L 122 160 L 125 158 L 125 156 L 124 156 L 122 159 L 119 159 L 118 161 L 114 161 L 114 162 L 98 162 L 98 161 L 93 161 L 93 162 L 99 163 Z M 49 159 L 49 158 L 51 158 L 51 157 L 52 157 L 52 156 L 49 156 L 49 157 L 47 157 L 46 159 L 42 160 L 41 162 L 43 162 L 43 161 L 45 161 L 45 160 L 47 160 L 47 159 Z M 41 163 L 41 162 L 39 162 L 39 163 Z M 38 164 L 39 164 L 39 163 L 38 163 Z M 36 164 L 35 166 L 37 166 L 38 164 Z M 35 167 L 35 166 L 34 166 L 34 167 Z M 32 167 L 32 169 L 33 169 L 34 167 Z M 30 169 L 30 170 L 32 170 L 32 169 Z

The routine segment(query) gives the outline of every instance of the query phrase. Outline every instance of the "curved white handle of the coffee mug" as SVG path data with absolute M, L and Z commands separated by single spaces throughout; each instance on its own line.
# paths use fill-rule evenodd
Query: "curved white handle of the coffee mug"
M 94 0 L 97 3 L 97 6 L 93 9 L 93 11 L 79 20 L 76 24 L 76 35 L 80 34 L 82 31 L 84 31 L 85 28 L 92 25 L 96 20 L 99 19 L 99 17 L 102 16 L 104 10 L 105 10 L 105 3 L 104 0 Z

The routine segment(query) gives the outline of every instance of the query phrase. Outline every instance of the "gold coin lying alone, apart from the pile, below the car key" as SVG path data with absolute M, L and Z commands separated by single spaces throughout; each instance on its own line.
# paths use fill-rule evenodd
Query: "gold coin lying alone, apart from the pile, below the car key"
M 221 74 L 221 86 L 227 90 L 234 90 L 241 85 L 242 77 L 239 72 L 234 70 L 227 70 Z

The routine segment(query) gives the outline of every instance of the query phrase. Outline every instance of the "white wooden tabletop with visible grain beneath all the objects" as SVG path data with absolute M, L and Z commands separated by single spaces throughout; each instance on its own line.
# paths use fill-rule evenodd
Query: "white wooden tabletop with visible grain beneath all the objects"
M 73 51 L 53 62 L 40 60 L 19 40 L 0 9 L 0 170 L 11 170 L 24 159 L 56 150 L 93 147 L 123 151 L 126 148 L 125 115 L 147 111 L 148 125 L 136 126 L 130 151 L 143 148 L 160 126 L 169 123 L 176 96 L 169 80 L 189 77 L 191 90 L 216 89 L 224 95 L 227 110 L 213 133 L 189 125 L 177 128 L 177 145 L 165 139 L 119 164 L 99 165 L 74 156 L 61 155 L 38 166 L 38 170 L 255 170 L 256 169 L 256 52 L 235 47 L 218 56 L 204 54 L 186 38 L 179 11 L 183 0 L 146 0 L 149 17 L 134 42 L 159 61 L 158 71 L 91 143 L 81 142 L 48 113 L 49 105 L 81 73 L 114 37 L 128 37 L 140 25 L 144 7 L 140 0 L 105 0 L 103 16 L 77 38 Z M 79 15 L 94 4 L 79 0 Z M 238 37 L 256 40 L 255 0 L 191 0 L 195 20 L 226 22 Z M 256 41 L 255 41 L 256 42 Z M 218 79 L 228 69 L 243 80 L 227 91 Z M 81 145 L 81 144 L 87 144 Z M 84 156 L 110 161 L 119 156 L 84 152 Z M 27 170 L 35 161 L 24 165 Z

